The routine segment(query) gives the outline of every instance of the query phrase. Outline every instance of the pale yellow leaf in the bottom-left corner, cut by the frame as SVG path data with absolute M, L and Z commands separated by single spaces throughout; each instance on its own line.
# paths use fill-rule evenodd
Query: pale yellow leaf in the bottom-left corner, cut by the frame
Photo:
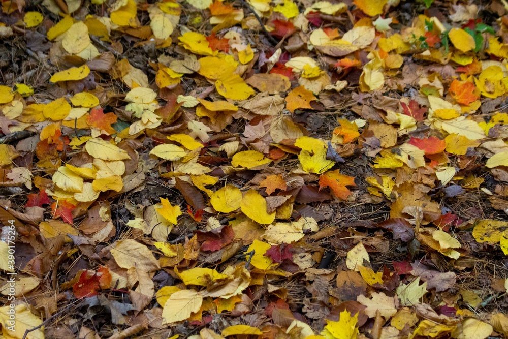
M 10 311 L 13 310 L 13 311 Z M 15 314 L 15 325 L 12 325 L 12 313 Z M 0 307 L 0 325 L 2 325 L 3 334 L 6 334 L 6 338 L 17 338 L 21 339 L 24 337 L 27 330 L 31 330 L 42 324 L 42 320 L 35 316 L 27 309 L 24 303 L 19 303 L 11 309 L 11 306 Z M 10 329 L 13 329 L 12 331 Z M 8 335 L 7 335 L 8 334 Z M 31 331 L 26 336 L 26 339 L 44 339 L 44 326 Z

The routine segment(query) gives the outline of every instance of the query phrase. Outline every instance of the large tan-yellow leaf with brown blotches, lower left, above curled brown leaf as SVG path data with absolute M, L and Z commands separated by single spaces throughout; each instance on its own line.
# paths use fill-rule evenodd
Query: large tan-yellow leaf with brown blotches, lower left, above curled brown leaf
M 121 268 L 135 267 L 145 272 L 152 272 L 161 268 L 152 251 L 134 239 L 118 241 L 111 249 L 111 255 Z

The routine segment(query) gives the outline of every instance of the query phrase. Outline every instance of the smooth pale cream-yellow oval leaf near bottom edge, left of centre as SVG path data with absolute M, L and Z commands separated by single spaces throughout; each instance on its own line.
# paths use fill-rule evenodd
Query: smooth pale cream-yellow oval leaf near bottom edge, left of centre
M 186 320 L 193 312 L 198 312 L 203 297 L 195 290 L 182 290 L 171 294 L 162 311 L 163 324 Z

